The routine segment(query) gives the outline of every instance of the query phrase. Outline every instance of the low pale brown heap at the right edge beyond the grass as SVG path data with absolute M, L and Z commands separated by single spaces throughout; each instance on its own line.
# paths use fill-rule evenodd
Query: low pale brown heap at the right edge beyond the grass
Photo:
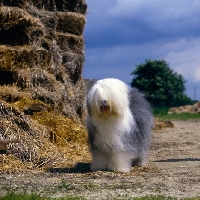
M 196 102 L 194 105 L 179 106 L 177 108 L 173 107 L 168 111 L 168 114 L 180 114 L 180 113 L 194 113 L 200 114 L 200 101 Z

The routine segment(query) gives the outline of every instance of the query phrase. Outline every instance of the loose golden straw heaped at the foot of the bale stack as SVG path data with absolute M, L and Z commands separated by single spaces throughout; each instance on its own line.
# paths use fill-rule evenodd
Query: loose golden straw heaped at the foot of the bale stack
M 89 161 L 87 133 L 83 125 L 53 111 L 35 112 L 32 116 L 21 113 L 20 108 L 42 105 L 38 100 L 15 102 L 1 101 L 1 139 L 21 139 L 22 153 L 2 156 L 1 171 L 46 169 L 48 167 L 72 167 L 76 162 Z M 1 162 L 1 161 L 0 161 Z

